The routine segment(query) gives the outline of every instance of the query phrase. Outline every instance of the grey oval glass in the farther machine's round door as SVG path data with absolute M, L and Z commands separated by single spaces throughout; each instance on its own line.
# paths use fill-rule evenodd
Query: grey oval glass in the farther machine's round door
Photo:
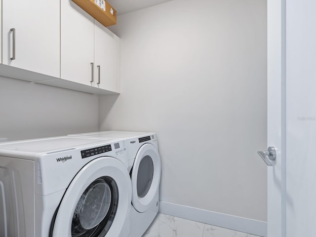
M 137 173 L 137 195 L 145 197 L 152 185 L 154 164 L 150 156 L 145 156 L 139 163 Z

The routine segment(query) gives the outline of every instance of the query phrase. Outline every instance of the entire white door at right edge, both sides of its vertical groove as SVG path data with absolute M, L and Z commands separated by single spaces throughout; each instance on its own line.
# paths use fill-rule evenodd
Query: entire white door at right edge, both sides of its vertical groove
M 316 2 L 268 0 L 268 237 L 316 236 Z

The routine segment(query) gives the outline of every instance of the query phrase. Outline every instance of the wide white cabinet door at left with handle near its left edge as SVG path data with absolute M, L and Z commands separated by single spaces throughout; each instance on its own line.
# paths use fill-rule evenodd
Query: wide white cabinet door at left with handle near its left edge
M 3 64 L 59 78 L 59 10 L 56 0 L 2 0 Z

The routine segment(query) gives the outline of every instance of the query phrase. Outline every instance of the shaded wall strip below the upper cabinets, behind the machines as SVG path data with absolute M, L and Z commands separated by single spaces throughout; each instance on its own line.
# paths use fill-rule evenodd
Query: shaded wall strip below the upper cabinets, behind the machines
M 0 138 L 97 131 L 98 109 L 96 95 L 0 77 Z

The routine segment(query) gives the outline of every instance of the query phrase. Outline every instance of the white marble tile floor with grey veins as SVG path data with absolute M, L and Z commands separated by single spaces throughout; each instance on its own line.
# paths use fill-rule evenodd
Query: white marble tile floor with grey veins
M 142 237 L 257 237 L 200 222 L 158 213 Z

